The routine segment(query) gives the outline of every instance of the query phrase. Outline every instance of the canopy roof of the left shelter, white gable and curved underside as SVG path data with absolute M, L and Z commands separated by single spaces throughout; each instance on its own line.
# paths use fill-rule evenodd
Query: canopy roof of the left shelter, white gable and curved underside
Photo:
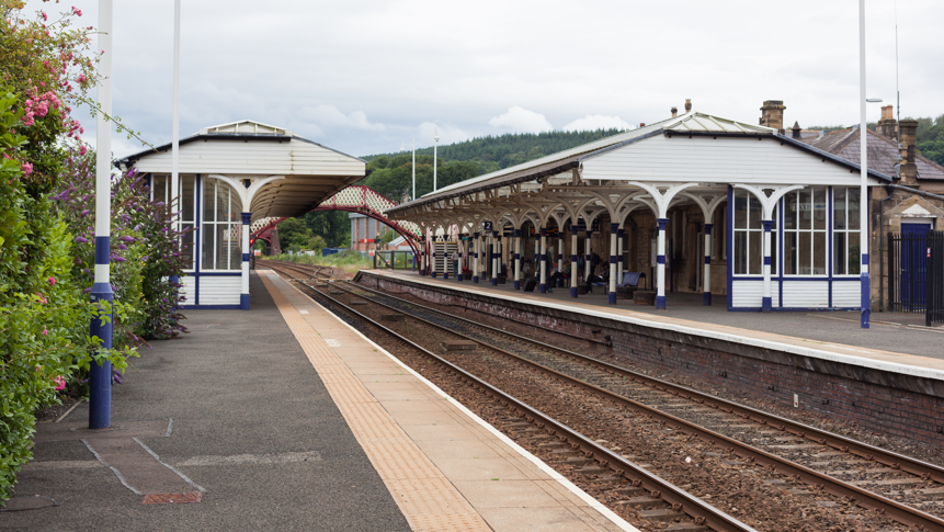
M 116 161 L 126 170 L 171 172 L 171 145 Z M 180 173 L 242 185 L 252 219 L 300 216 L 366 176 L 363 159 L 250 120 L 201 128 L 180 140 Z M 246 203 L 249 203 L 247 205 Z

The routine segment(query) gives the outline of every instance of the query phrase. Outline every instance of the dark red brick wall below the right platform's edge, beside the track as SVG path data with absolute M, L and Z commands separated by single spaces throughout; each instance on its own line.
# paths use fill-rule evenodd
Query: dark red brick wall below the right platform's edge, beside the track
M 944 443 L 944 383 L 851 364 L 811 359 L 741 343 L 647 328 L 605 318 L 565 313 L 447 288 L 362 274 L 367 286 L 480 312 L 489 325 L 510 320 L 580 338 L 610 337 L 606 354 L 642 363 L 669 377 L 737 389 L 743 397 L 763 398 L 872 431 L 930 443 Z M 489 317 L 490 316 L 490 317 Z M 599 346 L 599 344 L 598 344 Z M 928 393 L 922 393 L 925 390 Z

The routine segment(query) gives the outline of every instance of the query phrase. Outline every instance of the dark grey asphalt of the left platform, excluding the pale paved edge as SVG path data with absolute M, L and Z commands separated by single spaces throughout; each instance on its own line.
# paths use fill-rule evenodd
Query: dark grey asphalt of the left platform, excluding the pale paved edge
M 143 505 L 80 441 L 41 442 L 45 464 L 15 496 L 60 506 L 2 512 L 0 530 L 409 530 L 254 274 L 250 286 L 251 310 L 187 312 L 191 332 L 144 348 L 113 388 L 112 427 L 173 418 L 169 438 L 143 441 L 202 502 Z M 88 423 L 87 403 L 70 423 Z

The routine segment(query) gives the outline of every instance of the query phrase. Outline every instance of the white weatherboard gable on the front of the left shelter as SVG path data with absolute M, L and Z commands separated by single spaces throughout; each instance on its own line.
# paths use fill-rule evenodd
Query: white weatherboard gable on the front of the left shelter
M 363 176 L 363 161 L 303 140 L 196 140 L 181 145 L 181 173 Z M 171 152 L 135 162 L 141 172 L 170 172 Z

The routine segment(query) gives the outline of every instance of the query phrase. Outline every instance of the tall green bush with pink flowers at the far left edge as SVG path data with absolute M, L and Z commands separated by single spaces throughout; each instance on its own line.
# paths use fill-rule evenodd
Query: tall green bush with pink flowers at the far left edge
M 83 293 L 76 236 L 50 200 L 64 171 L 61 140 L 83 133 L 71 107 L 95 106 L 86 93 L 98 81 L 98 56 L 87 56 L 91 27 L 69 26 L 78 10 L 27 21 L 23 7 L 0 0 L 0 500 L 31 457 L 35 410 L 56 404 L 75 372 L 103 358 L 123 370 L 134 354 L 96 350 L 101 340 L 89 337 L 91 319 L 107 319 L 112 308 Z

